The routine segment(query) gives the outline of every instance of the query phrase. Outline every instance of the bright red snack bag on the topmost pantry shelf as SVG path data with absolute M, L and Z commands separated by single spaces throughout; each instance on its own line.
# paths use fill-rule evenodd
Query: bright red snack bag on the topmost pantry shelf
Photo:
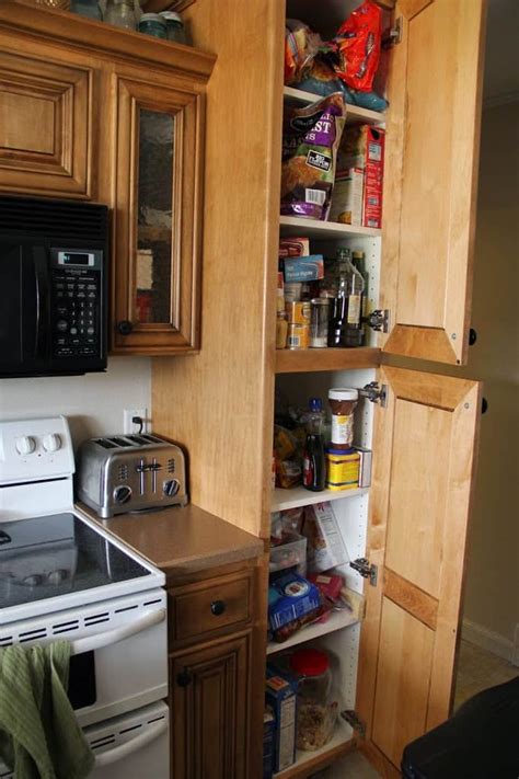
M 360 92 L 371 92 L 379 67 L 382 39 L 382 10 L 365 0 L 339 27 L 334 43 L 339 57 L 335 72 Z

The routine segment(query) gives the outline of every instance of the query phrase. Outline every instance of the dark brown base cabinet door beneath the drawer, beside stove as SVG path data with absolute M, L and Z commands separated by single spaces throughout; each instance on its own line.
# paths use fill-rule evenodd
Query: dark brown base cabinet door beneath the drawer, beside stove
M 246 779 L 251 632 L 170 658 L 173 779 Z

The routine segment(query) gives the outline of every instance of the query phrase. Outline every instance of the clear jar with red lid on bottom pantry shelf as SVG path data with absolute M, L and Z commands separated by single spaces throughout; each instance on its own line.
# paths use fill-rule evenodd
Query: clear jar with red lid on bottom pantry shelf
M 313 752 L 332 738 L 337 720 L 330 657 L 321 650 L 302 649 L 291 655 L 290 667 L 298 676 L 296 744 Z

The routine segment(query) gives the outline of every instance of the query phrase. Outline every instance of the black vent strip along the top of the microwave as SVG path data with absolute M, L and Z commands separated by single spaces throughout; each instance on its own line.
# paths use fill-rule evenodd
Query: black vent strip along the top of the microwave
M 0 233 L 42 236 L 46 239 L 105 241 L 106 206 L 73 201 L 0 197 Z

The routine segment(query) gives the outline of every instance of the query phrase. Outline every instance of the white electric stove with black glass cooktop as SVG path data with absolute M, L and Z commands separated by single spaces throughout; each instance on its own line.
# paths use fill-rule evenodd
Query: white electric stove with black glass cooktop
M 165 577 L 73 507 L 73 472 L 64 416 L 0 422 L 0 646 L 69 640 L 78 721 L 125 731 L 168 695 Z M 164 706 L 161 726 L 101 760 L 96 779 L 145 745 L 149 775 L 166 779 Z

